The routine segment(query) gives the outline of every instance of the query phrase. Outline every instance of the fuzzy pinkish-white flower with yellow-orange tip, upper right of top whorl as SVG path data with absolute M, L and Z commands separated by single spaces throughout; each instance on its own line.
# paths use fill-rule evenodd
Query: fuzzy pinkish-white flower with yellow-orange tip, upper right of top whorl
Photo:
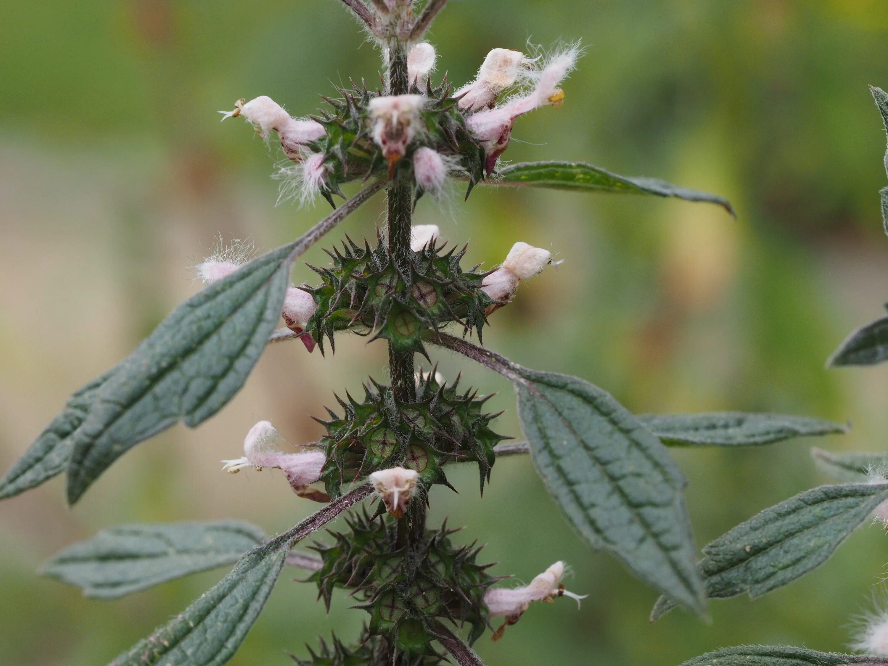
M 574 69 L 580 54 L 578 46 L 557 53 L 542 70 L 531 75 L 535 79 L 532 91 L 509 99 L 499 107 L 469 116 L 466 125 L 485 148 L 485 168 L 488 174 L 493 172 L 496 160 L 509 146 L 511 128 L 519 115 L 546 105 L 561 106 L 564 91 L 558 85 Z

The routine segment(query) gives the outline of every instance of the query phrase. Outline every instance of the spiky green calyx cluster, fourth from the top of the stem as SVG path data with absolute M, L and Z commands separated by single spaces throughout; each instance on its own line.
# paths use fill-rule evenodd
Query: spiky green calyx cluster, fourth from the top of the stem
M 370 614 L 369 635 L 384 637 L 400 654 L 438 656 L 431 642 L 441 621 L 470 625 L 470 642 L 484 633 L 484 593 L 499 579 L 486 573 L 492 565 L 478 564 L 480 548 L 450 543 L 458 530 L 445 525 L 407 542 L 403 526 L 385 514 L 346 521 L 347 533 L 330 532 L 332 544 L 313 546 L 323 566 L 309 580 L 328 609 L 334 589 L 351 591 Z

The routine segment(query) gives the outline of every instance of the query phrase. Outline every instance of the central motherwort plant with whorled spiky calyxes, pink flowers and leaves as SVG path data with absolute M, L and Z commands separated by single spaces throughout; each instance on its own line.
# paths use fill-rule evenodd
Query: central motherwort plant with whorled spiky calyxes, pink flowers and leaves
M 481 346 L 483 330 L 521 281 L 551 263 L 550 252 L 514 239 L 494 269 L 464 266 L 465 247 L 448 246 L 435 226 L 411 226 L 411 217 L 417 201 L 439 194 L 448 180 L 463 182 L 466 196 L 496 184 L 654 194 L 714 202 L 733 213 L 730 204 L 585 163 L 500 165 L 522 115 L 563 103 L 562 86 L 580 47 L 530 54 L 494 48 L 472 82 L 454 87 L 433 75 L 435 49 L 424 41 L 445 0 L 342 1 L 382 52 L 383 90 L 353 83 L 325 98 L 321 113 L 304 118 L 268 97 L 241 99 L 223 120 L 242 118 L 264 139 L 280 141 L 289 158 L 283 194 L 300 202 L 320 195 L 334 207 L 337 197 L 344 202 L 281 248 L 250 259 L 236 246 L 203 262 L 204 288 L 129 357 L 75 392 L 0 480 L 0 497 L 9 497 L 66 472 L 67 501 L 74 504 L 139 442 L 179 421 L 196 427 L 216 414 L 266 345 L 299 340 L 307 352 L 317 347 L 335 362 L 337 336 L 353 333 L 387 345 L 386 384 L 368 380 L 362 396 L 337 398 L 321 420 L 321 440 L 297 452 L 283 452 L 274 425 L 261 421 L 246 434 L 242 451 L 232 442 L 232 459 L 224 461 L 228 472 L 279 469 L 297 496 L 324 505 L 271 539 L 239 521 L 112 527 L 60 552 L 44 573 L 111 599 L 235 563 L 192 606 L 120 654 L 115 666 L 226 662 L 286 566 L 308 570 L 328 606 L 334 590 L 347 590 L 367 616 L 349 645 L 322 642 L 297 662 L 382 666 L 449 656 L 478 664 L 471 645 L 488 629 L 501 638 L 535 602 L 571 597 L 579 604 L 582 597 L 565 590 L 561 561 L 548 568 L 541 563 L 543 573 L 526 586 L 501 583 L 479 548 L 456 543 L 446 526 L 426 524 L 430 491 L 448 486 L 448 469 L 464 463 L 478 465 L 483 489 L 499 456 L 530 454 L 592 548 L 610 552 L 661 593 L 659 607 L 704 614 L 707 597 L 725 596 L 728 583 L 710 584 L 707 560 L 697 566 L 686 481 L 666 447 L 758 445 L 844 428 L 764 414 L 633 416 L 583 379 L 509 361 Z M 347 196 L 344 188 L 354 183 L 359 189 Z M 385 229 L 367 241 L 346 238 L 328 250 L 328 266 L 313 266 L 313 284 L 291 285 L 293 262 L 383 191 Z M 285 326 L 278 329 L 281 320 Z M 526 441 L 503 443 L 511 438 L 494 429 L 497 415 L 486 410 L 487 399 L 458 378 L 448 383 L 433 369 L 416 368 L 416 354 L 431 362 L 442 351 L 512 382 Z M 888 493 L 881 486 L 859 488 L 872 502 Z M 296 548 L 360 503 L 343 531 L 307 544 L 313 552 Z M 749 547 L 740 551 L 749 554 Z M 755 593 L 742 571 L 731 569 L 730 590 Z

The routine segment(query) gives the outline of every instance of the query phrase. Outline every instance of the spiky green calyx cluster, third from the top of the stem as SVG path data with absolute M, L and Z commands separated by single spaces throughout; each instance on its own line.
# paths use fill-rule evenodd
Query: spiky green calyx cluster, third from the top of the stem
M 371 382 L 360 403 L 350 395 L 347 401 L 337 397 L 343 416 L 328 408 L 332 420 L 317 419 L 327 428 L 321 480 L 329 496 L 339 496 L 355 479 L 397 466 L 419 472 L 425 487 L 449 486 L 443 471 L 448 462 L 478 463 L 484 490 L 496 462 L 494 447 L 509 439 L 489 428 L 499 416 L 483 409 L 491 396 L 458 392 L 459 377 L 439 385 L 434 372 L 417 382 L 415 402 L 401 402 L 391 387 Z

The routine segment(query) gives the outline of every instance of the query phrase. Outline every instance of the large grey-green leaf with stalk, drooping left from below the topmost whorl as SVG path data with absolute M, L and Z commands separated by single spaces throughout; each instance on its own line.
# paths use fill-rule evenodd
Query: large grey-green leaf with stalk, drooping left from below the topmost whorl
M 234 397 L 281 317 L 293 260 L 381 187 L 364 187 L 297 241 L 202 289 L 115 369 L 73 435 L 68 502 L 140 441 L 179 419 L 201 424 Z

